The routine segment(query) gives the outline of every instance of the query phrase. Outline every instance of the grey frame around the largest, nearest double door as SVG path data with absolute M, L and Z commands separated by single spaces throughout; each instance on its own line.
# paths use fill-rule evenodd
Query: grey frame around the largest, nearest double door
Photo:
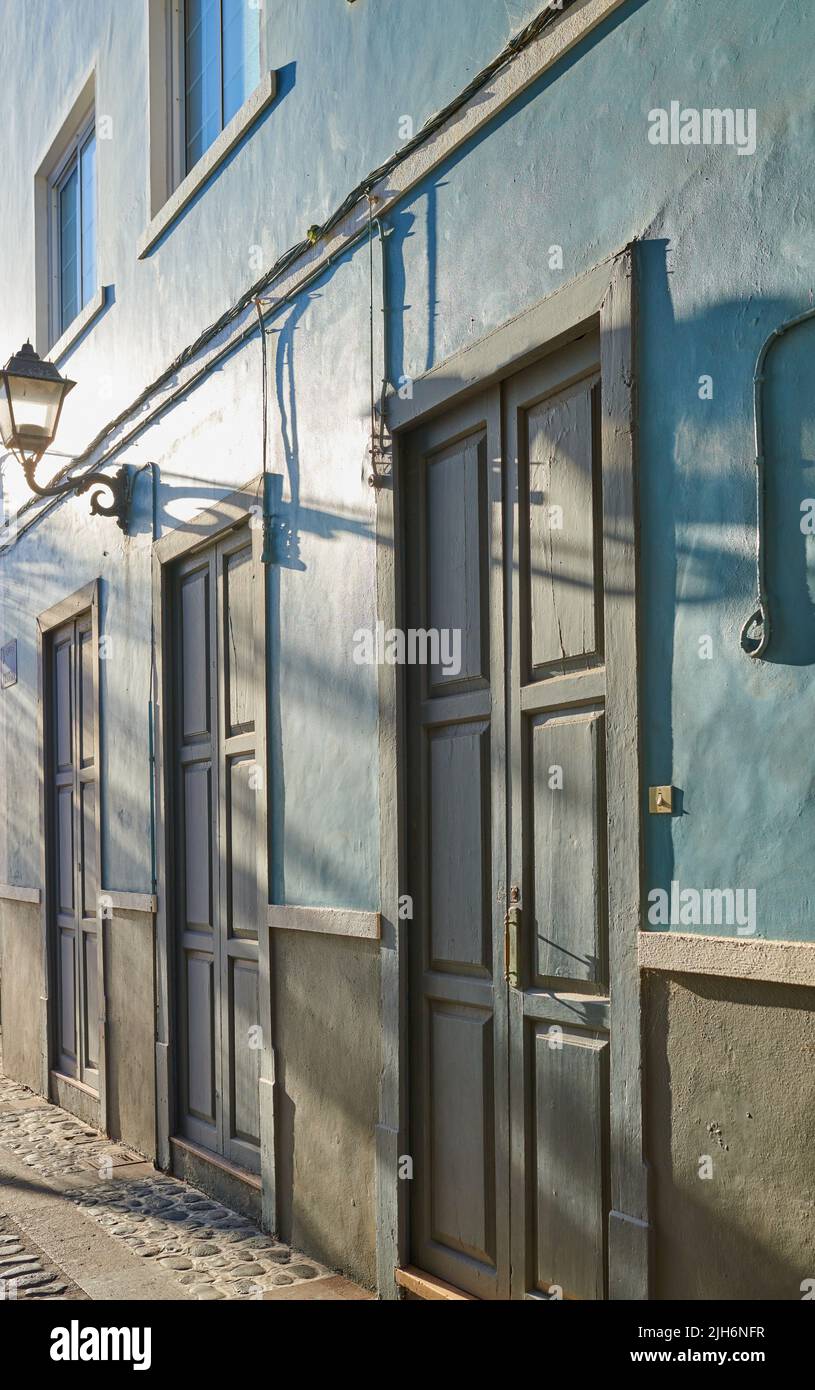
M 580 336 L 601 334 L 601 450 L 606 523 L 618 545 L 604 550 L 604 588 L 627 596 L 606 616 L 606 769 L 615 798 L 606 812 L 611 1033 L 609 1298 L 647 1300 L 651 1264 L 648 1173 L 643 1131 L 641 987 L 637 933 L 643 901 L 643 817 L 637 660 L 637 402 L 636 256 L 626 246 L 388 399 L 394 471 L 377 493 L 377 617 L 403 623 L 401 555 L 401 435 L 469 393 L 520 371 Z M 612 609 L 612 605 L 609 605 Z M 380 1295 L 399 1297 L 395 1270 L 409 1262 L 408 1183 L 408 922 L 399 920 L 405 881 L 405 682 L 380 666 L 380 806 L 382 910 L 382 1070 L 377 1126 L 377 1270 Z

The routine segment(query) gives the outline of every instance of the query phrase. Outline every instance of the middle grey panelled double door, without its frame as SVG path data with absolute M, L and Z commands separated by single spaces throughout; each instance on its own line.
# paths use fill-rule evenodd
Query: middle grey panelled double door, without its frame
M 178 566 L 171 632 L 178 1127 L 259 1172 L 255 582 L 242 527 Z

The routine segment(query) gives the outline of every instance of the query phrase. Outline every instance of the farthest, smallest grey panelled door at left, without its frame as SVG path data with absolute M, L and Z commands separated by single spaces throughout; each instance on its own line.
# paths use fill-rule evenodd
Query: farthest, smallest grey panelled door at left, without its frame
M 56 979 L 54 1065 L 99 1090 L 99 756 L 92 613 L 49 638 L 49 860 Z

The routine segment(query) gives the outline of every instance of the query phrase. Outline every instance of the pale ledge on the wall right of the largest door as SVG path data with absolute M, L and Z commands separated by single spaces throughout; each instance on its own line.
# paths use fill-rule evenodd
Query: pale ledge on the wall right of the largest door
M 691 931 L 640 931 L 640 969 L 718 974 L 815 988 L 815 942 L 704 937 Z

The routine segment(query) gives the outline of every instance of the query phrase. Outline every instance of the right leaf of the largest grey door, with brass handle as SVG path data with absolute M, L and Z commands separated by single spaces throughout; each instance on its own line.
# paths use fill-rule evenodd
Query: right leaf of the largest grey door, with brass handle
M 512 377 L 503 407 L 512 499 L 512 1293 L 604 1298 L 609 954 L 599 335 Z

